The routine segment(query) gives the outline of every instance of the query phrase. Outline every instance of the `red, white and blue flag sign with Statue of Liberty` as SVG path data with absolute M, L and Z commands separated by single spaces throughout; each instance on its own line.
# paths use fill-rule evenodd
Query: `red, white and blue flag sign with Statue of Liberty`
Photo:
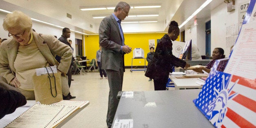
M 218 128 L 256 127 L 256 80 L 216 71 L 216 60 L 194 103 Z

